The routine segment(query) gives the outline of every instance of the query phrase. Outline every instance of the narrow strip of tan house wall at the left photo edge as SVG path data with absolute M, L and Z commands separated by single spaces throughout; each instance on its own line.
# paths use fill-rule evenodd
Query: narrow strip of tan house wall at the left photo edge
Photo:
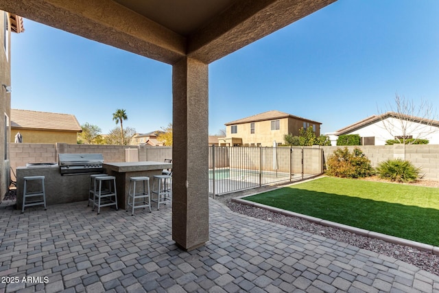
M 10 24 L 8 13 L 0 10 L 0 80 L 1 84 L 11 84 L 10 67 Z M 6 30 L 5 22 L 8 22 Z M 6 93 L 0 84 L 0 201 L 8 191 L 10 184 L 10 159 L 8 157 L 8 145 L 10 137 L 10 108 L 11 93 Z

